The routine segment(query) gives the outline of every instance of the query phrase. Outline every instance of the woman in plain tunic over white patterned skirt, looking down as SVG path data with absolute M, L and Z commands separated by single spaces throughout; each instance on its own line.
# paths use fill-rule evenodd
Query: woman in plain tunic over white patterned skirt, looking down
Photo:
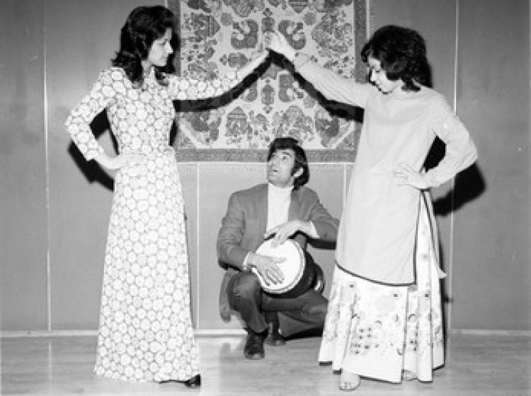
M 370 82 L 357 83 L 296 54 L 284 54 L 326 98 L 364 108 L 358 154 L 343 208 L 337 266 L 319 361 L 341 370 L 339 388 L 360 376 L 431 381 L 444 363 L 438 240 L 428 189 L 476 160 L 476 147 L 439 93 L 426 87 L 426 45 L 416 31 L 379 28 L 362 48 Z M 423 171 L 438 136 L 445 157 Z

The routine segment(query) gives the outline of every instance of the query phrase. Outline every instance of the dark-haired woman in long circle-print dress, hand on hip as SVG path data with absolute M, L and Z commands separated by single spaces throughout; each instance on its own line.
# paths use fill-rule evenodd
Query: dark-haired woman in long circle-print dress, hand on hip
M 103 269 L 97 375 L 200 385 L 190 320 L 188 253 L 177 162 L 169 146 L 173 100 L 213 98 L 253 71 L 267 52 L 212 81 L 180 78 L 168 57 L 173 13 L 135 8 L 113 66 L 66 121 L 87 161 L 117 170 Z M 108 156 L 89 124 L 106 110 L 119 154 Z

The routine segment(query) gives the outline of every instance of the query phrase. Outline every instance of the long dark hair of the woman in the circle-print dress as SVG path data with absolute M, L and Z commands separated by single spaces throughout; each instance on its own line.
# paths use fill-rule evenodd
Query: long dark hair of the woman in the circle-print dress
M 113 66 L 121 67 L 127 77 L 137 85 L 144 80 L 142 60 L 147 59 L 153 42 L 164 36 L 170 28 L 172 37 L 175 35 L 176 19 L 173 13 L 164 6 L 140 6 L 135 8 L 120 31 L 120 50 L 112 59 Z M 155 76 L 159 83 L 164 83 L 164 74 L 173 73 L 172 62 L 164 67 L 155 67 Z

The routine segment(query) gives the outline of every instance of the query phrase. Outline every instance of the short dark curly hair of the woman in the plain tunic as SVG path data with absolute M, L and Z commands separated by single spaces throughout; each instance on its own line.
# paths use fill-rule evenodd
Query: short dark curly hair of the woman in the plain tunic
M 415 30 L 395 25 L 379 28 L 361 50 L 363 62 L 368 57 L 380 62 L 389 80 L 401 78 L 404 91 L 418 91 L 418 83 L 428 83 L 426 42 Z

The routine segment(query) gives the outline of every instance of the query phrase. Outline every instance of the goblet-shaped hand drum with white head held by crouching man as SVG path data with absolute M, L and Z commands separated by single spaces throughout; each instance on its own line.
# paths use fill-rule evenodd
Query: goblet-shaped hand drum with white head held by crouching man
M 284 280 L 280 284 L 265 284 L 262 276 L 253 268 L 252 271 L 258 276 L 262 289 L 278 297 L 294 298 L 312 288 L 316 276 L 312 256 L 302 250 L 295 240 L 288 239 L 276 248 L 273 248 L 272 244 L 273 240 L 266 240 L 256 249 L 256 253 L 285 258 L 283 262 L 276 263 L 284 274 Z

